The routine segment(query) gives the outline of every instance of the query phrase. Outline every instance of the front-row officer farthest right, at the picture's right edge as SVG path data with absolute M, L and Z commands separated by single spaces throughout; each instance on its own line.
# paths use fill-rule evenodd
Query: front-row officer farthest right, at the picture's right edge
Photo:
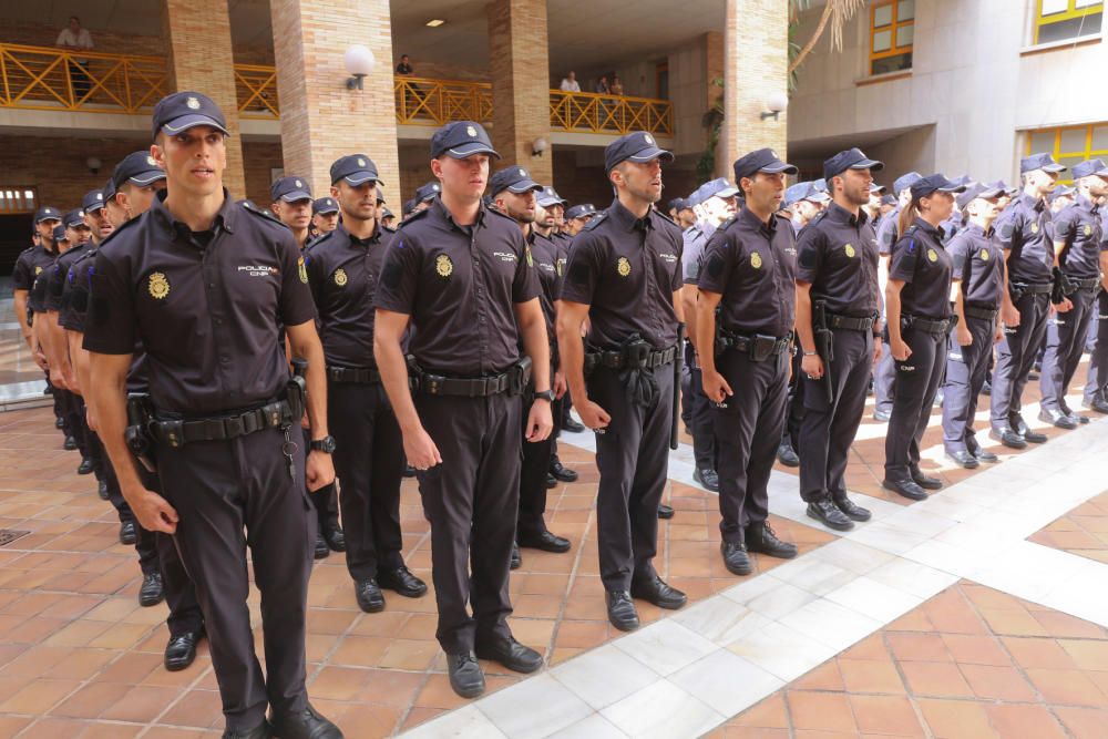
M 1057 315 L 1047 324 L 1043 358 L 1039 420 L 1059 429 L 1076 429 L 1088 422 L 1066 404 L 1066 393 L 1085 350 L 1096 295 L 1100 287 L 1104 233 L 1100 204 L 1108 196 L 1108 166 L 1101 160 L 1074 165 L 1076 199 L 1054 217 L 1054 255 L 1063 283 Z

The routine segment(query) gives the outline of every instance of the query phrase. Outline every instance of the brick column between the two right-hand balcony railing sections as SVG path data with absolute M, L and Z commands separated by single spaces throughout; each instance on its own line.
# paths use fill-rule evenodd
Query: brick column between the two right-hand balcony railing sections
M 554 152 L 532 155 L 535 138 L 551 137 L 550 55 L 546 0 L 492 0 L 489 59 L 492 78 L 493 146 L 504 158 L 493 167 L 517 164 L 538 182 L 554 182 Z

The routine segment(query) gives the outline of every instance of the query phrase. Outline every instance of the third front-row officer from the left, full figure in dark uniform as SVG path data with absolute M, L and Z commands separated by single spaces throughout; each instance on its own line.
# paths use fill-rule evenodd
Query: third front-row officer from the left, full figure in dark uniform
M 681 234 L 654 209 L 661 163 L 673 160 L 642 131 L 604 150 L 616 197 L 570 247 L 557 319 L 570 392 L 581 420 L 597 430 L 601 581 L 608 620 L 622 630 L 638 627 L 633 597 L 660 608 L 686 602 L 653 563 L 681 350 Z M 587 386 L 581 338 L 586 319 L 595 365 Z

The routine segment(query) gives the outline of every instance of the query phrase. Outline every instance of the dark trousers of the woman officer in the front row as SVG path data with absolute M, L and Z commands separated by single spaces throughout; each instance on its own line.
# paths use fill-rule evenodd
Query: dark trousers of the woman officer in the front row
M 895 363 L 893 412 L 885 433 L 885 480 L 904 482 L 920 465 L 920 442 L 946 369 L 947 335 L 910 326 L 901 330 L 901 338 L 912 353 Z

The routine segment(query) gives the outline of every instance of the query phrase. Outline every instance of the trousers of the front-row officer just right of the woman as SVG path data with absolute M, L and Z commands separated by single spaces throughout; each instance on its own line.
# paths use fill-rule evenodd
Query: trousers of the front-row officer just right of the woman
M 966 318 L 973 337 L 968 347 L 958 345 L 957 332 L 950 337 L 946 379 L 943 381 L 943 447 L 946 452 L 975 453 L 981 447 L 974 439 L 973 420 L 977 399 L 985 387 L 988 362 L 993 357 L 996 325 L 984 318 Z

